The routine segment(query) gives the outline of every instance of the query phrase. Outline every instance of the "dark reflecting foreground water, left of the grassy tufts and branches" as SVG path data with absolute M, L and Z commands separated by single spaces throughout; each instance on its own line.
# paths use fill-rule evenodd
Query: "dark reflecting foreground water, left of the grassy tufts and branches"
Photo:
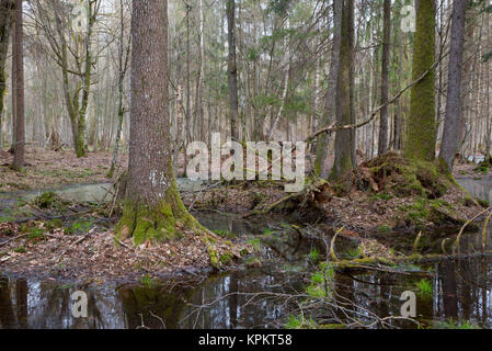
M 1 276 L 0 328 L 268 328 L 285 306 L 245 293 L 285 291 L 285 279 L 237 272 L 203 282 L 81 288 Z M 88 294 L 88 318 L 71 314 L 77 290 Z

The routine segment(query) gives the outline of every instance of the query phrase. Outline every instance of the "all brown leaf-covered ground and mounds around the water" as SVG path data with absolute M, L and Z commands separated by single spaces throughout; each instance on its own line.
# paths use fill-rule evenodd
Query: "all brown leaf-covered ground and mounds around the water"
M 108 152 L 77 159 L 71 150 L 30 149 L 26 155 L 30 166 L 24 173 L 16 174 L 8 167 L 11 155 L 0 151 L 3 165 L 0 192 L 110 182 L 106 173 L 111 158 Z M 122 159 L 123 170 L 126 156 Z M 377 239 L 387 245 L 384 251 L 388 251 L 397 242 L 399 249 L 401 242 L 411 247 L 421 230 L 431 234 L 453 228 L 456 235 L 467 219 L 488 206 L 471 199 L 450 179 L 428 171 L 431 168 L 432 165 L 408 165 L 398 155 L 389 155 L 362 162 L 337 184 L 311 186 L 297 196 L 289 196 L 284 184 L 273 181 L 216 184 L 184 192 L 182 196 L 193 211 L 236 213 L 251 220 L 283 213 L 293 223 L 316 226 L 327 237 L 343 227 L 342 235 Z M 405 172 L 411 173 L 410 178 Z M 457 167 L 460 177 L 484 177 L 484 173 L 482 170 L 477 173 L 476 165 Z M 24 217 L 27 213 L 27 217 L 37 219 L 0 220 L 2 271 L 79 282 L 131 280 L 142 274 L 196 274 L 210 269 L 211 259 L 229 264 L 244 253 L 241 248 L 251 251 L 244 242 L 214 235 L 207 240 L 186 235 L 173 242 L 138 248 L 128 239 L 115 246 L 112 228 L 117 213 L 110 211 L 111 206 L 67 203 L 60 199 L 48 199 L 46 203 L 43 195 L 39 197 L 16 208 L 21 214 L 24 212 Z

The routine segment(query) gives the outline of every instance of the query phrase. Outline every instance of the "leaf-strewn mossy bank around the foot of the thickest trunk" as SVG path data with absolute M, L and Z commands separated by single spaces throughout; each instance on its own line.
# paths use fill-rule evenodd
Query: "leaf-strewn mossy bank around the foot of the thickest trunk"
M 73 203 L 50 192 L 16 205 L 16 213 L 37 219 L 0 220 L 0 268 L 14 274 L 77 282 L 138 281 L 138 278 L 195 275 L 231 265 L 249 252 L 217 235 L 182 230 L 182 237 L 160 245 L 135 247 L 115 240 L 117 215 L 110 205 Z M 21 215 L 20 215 L 21 216 Z

